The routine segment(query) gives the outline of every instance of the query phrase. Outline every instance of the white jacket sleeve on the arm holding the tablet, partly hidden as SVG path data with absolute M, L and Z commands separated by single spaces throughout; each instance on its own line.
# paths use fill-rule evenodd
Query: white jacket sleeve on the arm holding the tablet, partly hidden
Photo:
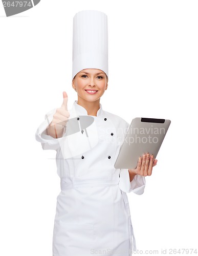
M 126 122 L 125 126 L 125 135 L 128 131 L 129 128 L 129 123 Z M 144 188 L 145 188 L 145 177 L 141 175 L 136 175 L 134 179 L 130 182 L 130 177 L 128 173 L 128 169 L 120 169 L 120 174 L 119 174 L 120 180 L 119 180 L 119 188 L 126 192 L 130 193 L 133 191 L 137 195 L 142 195 L 144 193 Z

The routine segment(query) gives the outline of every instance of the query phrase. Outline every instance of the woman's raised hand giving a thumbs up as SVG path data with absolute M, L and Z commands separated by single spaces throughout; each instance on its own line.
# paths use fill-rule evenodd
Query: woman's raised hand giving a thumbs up
M 67 124 L 67 120 L 70 117 L 68 112 L 68 95 L 63 92 L 63 102 L 60 108 L 56 109 L 56 113 L 53 115 L 52 122 L 47 128 L 48 135 L 53 138 L 59 138 L 63 134 L 63 128 Z

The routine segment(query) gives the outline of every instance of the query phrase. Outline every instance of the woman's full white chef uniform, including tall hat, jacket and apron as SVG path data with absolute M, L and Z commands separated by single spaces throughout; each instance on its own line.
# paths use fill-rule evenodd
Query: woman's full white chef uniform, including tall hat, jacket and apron
M 89 68 L 108 75 L 107 63 L 107 16 L 78 12 L 73 24 L 72 78 Z M 43 150 L 56 151 L 60 177 L 53 256 L 131 255 L 136 242 L 126 193 L 141 195 L 145 178 L 136 175 L 130 182 L 128 169 L 114 167 L 129 124 L 104 111 L 101 104 L 97 116 L 89 116 L 74 101 L 63 136 L 55 139 L 46 132 L 55 112 L 46 114 L 35 134 Z

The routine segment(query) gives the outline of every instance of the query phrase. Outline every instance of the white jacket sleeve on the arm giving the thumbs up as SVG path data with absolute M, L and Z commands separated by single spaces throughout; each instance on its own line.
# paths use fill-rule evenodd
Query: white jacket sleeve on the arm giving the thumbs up
M 41 142 L 43 150 L 57 150 L 60 147 L 61 138 L 53 138 L 50 135 L 47 135 L 47 127 L 52 122 L 53 115 L 55 114 L 56 109 L 51 110 L 45 115 L 45 121 L 43 121 L 36 130 L 35 139 L 38 142 Z

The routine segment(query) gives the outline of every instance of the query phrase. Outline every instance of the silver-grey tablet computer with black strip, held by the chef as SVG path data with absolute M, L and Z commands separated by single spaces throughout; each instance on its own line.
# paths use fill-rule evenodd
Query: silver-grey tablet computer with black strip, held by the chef
M 120 147 L 114 167 L 135 169 L 139 157 L 146 153 L 156 159 L 169 125 L 169 119 L 134 118 Z

